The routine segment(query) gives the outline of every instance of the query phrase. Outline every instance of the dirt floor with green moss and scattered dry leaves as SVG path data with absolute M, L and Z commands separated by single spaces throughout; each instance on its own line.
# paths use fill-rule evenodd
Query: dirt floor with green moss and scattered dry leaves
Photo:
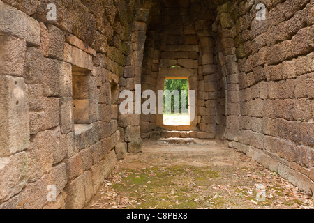
M 311 197 L 223 142 L 170 142 L 178 141 L 144 141 L 87 208 L 314 208 Z

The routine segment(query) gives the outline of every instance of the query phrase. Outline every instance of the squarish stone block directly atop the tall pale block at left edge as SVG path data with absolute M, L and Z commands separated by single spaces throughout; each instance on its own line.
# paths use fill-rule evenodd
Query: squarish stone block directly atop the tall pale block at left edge
M 0 75 L 22 76 L 25 52 L 25 40 L 0 36 Z

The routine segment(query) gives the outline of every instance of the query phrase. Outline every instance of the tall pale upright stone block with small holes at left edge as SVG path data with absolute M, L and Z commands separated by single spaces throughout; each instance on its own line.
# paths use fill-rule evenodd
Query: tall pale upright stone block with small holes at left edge
M 27 85 L 22 77 L 0 75 L 0 156 L 29 148 Z

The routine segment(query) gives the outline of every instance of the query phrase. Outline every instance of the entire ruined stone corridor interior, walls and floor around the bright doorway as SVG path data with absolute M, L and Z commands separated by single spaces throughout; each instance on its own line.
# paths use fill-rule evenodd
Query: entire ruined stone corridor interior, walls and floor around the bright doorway
M 104 208 L 306 207 L 313 14 L 313 0 L 0 0 L 0 209 L 80 209 L 99 191 Z M 195 93 L 185 125 L 155 108 L 167 79 Z

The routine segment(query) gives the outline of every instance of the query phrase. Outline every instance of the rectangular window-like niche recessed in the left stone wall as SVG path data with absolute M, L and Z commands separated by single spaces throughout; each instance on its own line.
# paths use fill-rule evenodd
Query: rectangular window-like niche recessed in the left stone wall
M 96 80 L 91 70 L 72 66 L 73 116 L 75 124 L 96 121 Z

